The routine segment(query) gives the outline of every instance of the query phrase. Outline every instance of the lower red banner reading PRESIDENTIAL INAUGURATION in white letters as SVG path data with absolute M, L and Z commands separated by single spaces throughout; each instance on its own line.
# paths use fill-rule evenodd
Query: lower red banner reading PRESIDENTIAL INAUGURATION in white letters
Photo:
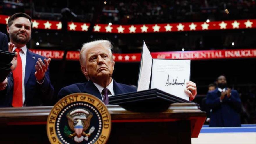
M 62 59 L 64 51 L 31 49 L 32 52 L 47 58 Z M 205 51 L 174 51 L 174 52 L 152 52 L 152 58 L 163 59 L 227 59 L 227 58 L 256 58 L 256 49 L 230 49 L 230 50 L 205 50 Z M 68 51 L 67 60 L 79 60 L 79 51 Z M 139 62 L 141 53 L 113 54 L 115 62 Z

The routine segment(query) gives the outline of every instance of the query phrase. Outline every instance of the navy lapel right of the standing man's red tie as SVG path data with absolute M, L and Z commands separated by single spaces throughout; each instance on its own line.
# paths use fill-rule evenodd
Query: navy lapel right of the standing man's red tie
M 28 82 L 30 73 L 32 72 L 33 68 L 35 68 L 35 54 L 29 51 L 27 49 L 27 58 L 26 58 L 26 68 L 25 68 L 25 86 L 26 83 Z

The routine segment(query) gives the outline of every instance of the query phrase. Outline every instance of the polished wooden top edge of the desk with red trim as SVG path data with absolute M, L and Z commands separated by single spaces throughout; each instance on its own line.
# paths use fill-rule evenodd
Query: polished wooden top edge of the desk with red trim
M 46 124 L 52 107 L 0 108 L 0 126 Z M 118 105 L 108 105 L 107 107 L 111 114 L 112 123 L 189 120 L 191 123 L 191 137 L 198 137 L 206 118 L 206 113 L 198 109 L 194 103 L 173 103 L 166 111 L 151 113 L 131 112 Z

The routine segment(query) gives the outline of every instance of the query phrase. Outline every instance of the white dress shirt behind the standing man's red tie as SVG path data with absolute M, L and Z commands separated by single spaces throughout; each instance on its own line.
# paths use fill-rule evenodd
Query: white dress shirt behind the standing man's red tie
M 17 47 L 13 48 L 13 51 Z M 21 58 L 21 63 L 22 63 L 22 105 L 24 105 L 25 102 L 25 70 L 26 70 L 26 59 L 27 59 L 27 46 L 25 45 L 24 47 L 20 48 L 21 51 L 19 51 L 19 55 Z

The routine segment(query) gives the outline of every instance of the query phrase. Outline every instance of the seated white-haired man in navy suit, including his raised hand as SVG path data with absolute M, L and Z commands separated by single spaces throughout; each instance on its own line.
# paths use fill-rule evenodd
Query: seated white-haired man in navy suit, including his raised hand
M 109 96 L 136 91 L 135 87 L 117 83 L 112 79 L 115 62 L 111 49 L 112 45 L 108 40 L 85 43 L 80 51 L 80 65 L 88 82 L 62 88 L 58 93 L 58 99 L 72 93 L 89 93 L 108 104 Z M 195 83 L 188 82 L 185 92 L 190 99 L 194 99 Z

